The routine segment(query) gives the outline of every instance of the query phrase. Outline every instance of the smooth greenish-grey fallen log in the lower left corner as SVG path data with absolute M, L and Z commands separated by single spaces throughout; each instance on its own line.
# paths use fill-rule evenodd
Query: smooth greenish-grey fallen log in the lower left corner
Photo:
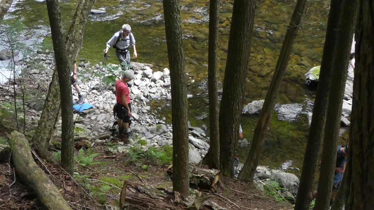
M 8 138 L 17 175 L 36 192 L 46 209 L 71 210 L 53 182 L 35 163 L 25 136 L 15 130 Z

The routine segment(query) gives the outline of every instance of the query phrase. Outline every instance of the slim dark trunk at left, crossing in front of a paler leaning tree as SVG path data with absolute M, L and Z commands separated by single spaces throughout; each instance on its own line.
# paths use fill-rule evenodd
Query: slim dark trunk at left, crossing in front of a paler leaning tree
M 74 124 L 73 99 L 71 96 L 70 64 L 68 63 L 65 37 L 62 31 L 60 8 L 57 0 L 47 0 L 50 31 L 53 51 L 55 52 L 56 69 L 61 99 L 61 163 L 65 170 L 73 175 L 74 170 Z

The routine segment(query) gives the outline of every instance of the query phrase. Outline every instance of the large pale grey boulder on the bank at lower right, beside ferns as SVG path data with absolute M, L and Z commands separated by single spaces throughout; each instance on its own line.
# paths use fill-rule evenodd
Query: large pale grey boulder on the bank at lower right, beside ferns
M 285 173 L 281 170 L 274 170 L 276 173 L 272 173 L 270 179 L 275 180 L 279 183 L 279 186 L 285 188 L 291 192 L 292 195 L 297 195 L 299 189 L 300 180 L 293 173 Z

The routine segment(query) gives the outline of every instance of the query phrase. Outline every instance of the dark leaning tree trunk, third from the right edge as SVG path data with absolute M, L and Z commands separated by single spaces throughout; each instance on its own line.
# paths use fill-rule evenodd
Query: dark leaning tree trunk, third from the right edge
M 338 31 L 335 27 L 340 21 L 340 11 L 343 1 L 332 0 L 330 14 L 327 22 L 327 31 L 322 55 L 321 70 L 313 107 L 312 123 L 310 124 L 309 136 L 304 154 L 303 169 L 301 171 L 299 190 L 295 203 L 295 210 L 309 210 L 312 200 L 313 183 L 316 174 L 319 151 L 327 114 L 327 104 L 331 86 L 332 68 L 334 66 L 334 55 L 337 48 Z

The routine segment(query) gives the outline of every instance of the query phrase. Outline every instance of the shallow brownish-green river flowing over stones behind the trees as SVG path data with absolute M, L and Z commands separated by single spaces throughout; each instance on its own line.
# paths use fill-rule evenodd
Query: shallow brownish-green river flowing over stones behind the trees
M 77 0 L 60 1 L 61 18 L 67 31 Z M 206 124 L 208 116 L 208 0 L 181 0 L 180 14 L 183 28 L 183 48 L 186 55 L 188 74 L 188 119 L 193 126 Z M 221 92 L 224 68 L 227 58 L 227 43 L 230 33 L 233 0 L 221 0 L 219 21 L 219 89 Z M 254 100 L 264 99 L 282 46 L 287 24 L 295 6 L 294 0 L 260 0 L 257 2 L 250 68 L 246 80 L 243 106 Z M 304 74 L 312 67 L 320 65 L 324 45 L 325 29 L 329 1 L 309 1 L 307 15 L 301 24 L 301 30 L 295 40 L 294 51 L 289 60 L 277 102 L 281 104 L 312 104 L 315 90 L 305 84 Z M 92 9 L 105 10 L 102 14 L 89 15 L 79 58 L 86 58 L 92 65 L 103 59 L 105 43 L 122 24 L 128 23 L 136 39 L 138 58 L 132 61 L 153 64 L 154 71 L 168 68 L 168 57 L 163 22 L 162 0 L 96 0 Z M 16 0 L 13 2 L 1 28 L 16 30 L 16 40 L 23 40 L 27 35 L 31 39 L 24 41 L 30 49 L 52 49 L 49 21 L 45 1 Z M 7 48 L 2 44 L 0 50 Z M 21 50 L 21 49 L 20 49 Z M 131 53 L 132 54 L 132 53 Z M 21 52 L 21 55 L 25 53 Z M 114 50 L 109 50 L 108 62 L 117 64 Z M 4 62 L 0 70 L 7 72 Z M 169 102 L 153 101 L 154 112 L 170 121 Z M 161 111 L 157 109 L 162 107 Z M 310 106 L 309 106 L 310 107 Z M 258 116 L 242 116 L 243 136 L 251 142 Z M 266 136 L 260 164 L 277 168 L 286 160 L 293 160 L 293 166 L 301 169 L 309 125 L 306 115 L 295 121 L 278 120 L 274 112 Z M 240 145 L 240 143 L 238 143 Z M 240 161 L 246 159 L 249 147 L 239 148 Z M 293 171 L 300 175 L 299 171 Z

